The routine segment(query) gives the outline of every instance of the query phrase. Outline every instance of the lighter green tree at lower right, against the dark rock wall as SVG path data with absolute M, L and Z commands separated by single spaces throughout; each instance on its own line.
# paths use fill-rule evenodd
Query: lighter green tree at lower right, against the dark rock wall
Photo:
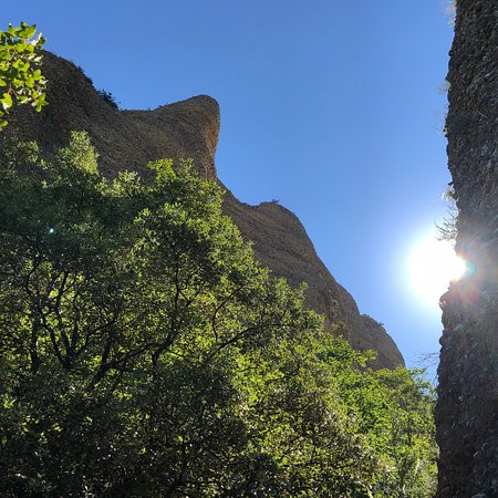
M 423 370 L 371 371 L 369 354 L 335 340 L 330 369 L 340 385 L 356 430 L 384 465 L 385 474 L 373 486 L 375 496 L 428 497 L 437 484 L 435 391 Z

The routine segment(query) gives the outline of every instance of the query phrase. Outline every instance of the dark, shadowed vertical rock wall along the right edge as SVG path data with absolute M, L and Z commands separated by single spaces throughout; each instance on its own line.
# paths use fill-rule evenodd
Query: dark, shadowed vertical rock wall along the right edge
M 447 151 L 459 208 L 457 250 L 475 272 L 442 298 L 440 498 L 498 496 L 497 27 L 496 0 L 457 1 Z

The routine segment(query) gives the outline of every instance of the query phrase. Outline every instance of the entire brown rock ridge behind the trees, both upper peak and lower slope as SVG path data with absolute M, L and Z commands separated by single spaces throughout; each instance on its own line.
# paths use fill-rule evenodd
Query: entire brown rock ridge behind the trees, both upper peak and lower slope
M 50 105 L 41 115 L 29 108 L 17 111 L 10 117 L 9 134 L 35 139 L 43 149 L 53 151 L 66 143 L 70 131 L 85 129 L 108 175 L 120 169 L 146 174 L 148 160 L 168 157 L 193 158 L 201 175 L 216 178 L 219 108 L 211 97 L 200 95 L 154 111 L 118 111 L 98 95 L 74 64 L 46 53 L 43 72 L 49 79 Z M 377 351 L 374 366 L 403 364 L 394 341 L 380 323 L 360 314 L 353 298 L 335 282 L 292 212 L 274 203 L 248 206 L 228 189 L 224 208 L 242 236 L 255 242 L 262 264 L 293 286 L 309 284 L 307 302 L 325 314 L 328 326 L 340 321 L 343 325 L 339 332 L 353 347 Z

